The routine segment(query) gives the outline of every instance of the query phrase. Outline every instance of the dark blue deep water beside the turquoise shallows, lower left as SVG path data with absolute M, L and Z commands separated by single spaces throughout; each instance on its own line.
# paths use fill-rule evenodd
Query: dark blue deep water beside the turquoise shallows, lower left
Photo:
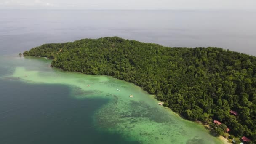
M 106 99 L 68 95 L 64 85 L 0 79 L 0 144 L 138 144 L 95 129 L 91 117 Z

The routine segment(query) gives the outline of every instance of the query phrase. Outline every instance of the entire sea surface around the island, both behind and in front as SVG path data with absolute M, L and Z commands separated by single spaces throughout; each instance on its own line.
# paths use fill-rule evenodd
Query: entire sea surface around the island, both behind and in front
M 132 83 L 64 72 L 51 68 L 49 59 L 18 54 L 43 43 L 119 36 L 255 55 L 253 15 L 0 10 L 0 144 L 221 144 L 203 125 L 158 105 L 154 96 Z

